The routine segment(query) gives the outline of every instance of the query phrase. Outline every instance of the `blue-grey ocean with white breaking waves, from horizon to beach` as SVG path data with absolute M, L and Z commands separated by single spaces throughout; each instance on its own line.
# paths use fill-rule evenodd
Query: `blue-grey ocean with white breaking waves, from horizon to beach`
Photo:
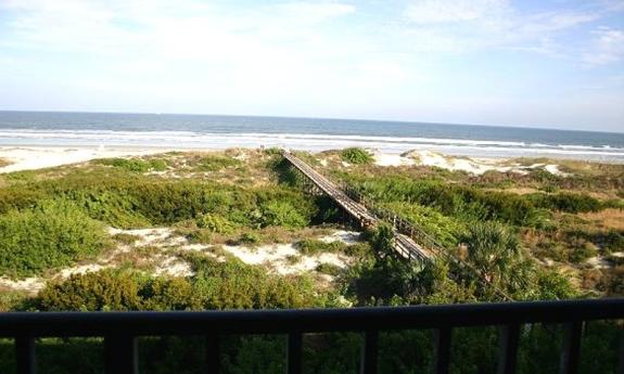
M 322 151 L 364 146 L 480 157 L 624 163 L 624 133 L 359 119 L 177 114 L 0 112 L 0 145 Z

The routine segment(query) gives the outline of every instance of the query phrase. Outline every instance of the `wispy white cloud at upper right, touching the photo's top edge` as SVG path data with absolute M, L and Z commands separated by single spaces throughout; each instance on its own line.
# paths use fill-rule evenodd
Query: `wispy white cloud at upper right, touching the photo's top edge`
M 420 51 L 463 53 L 514 50 L 577 59 L 573 43 L 559 37 L 595 22 L 613 8 L 520 11 L 508 0 L 412 0 L 404 10 L 403 31 Z

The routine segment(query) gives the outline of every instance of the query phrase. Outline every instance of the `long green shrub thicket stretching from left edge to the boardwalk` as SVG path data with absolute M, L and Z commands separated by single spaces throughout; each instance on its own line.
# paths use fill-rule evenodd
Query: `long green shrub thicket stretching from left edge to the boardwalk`
M 282 219 L 291 227 L 302 227 L 322 219 L 317 215 L 317 199 L 298 190 L 154 179 L 115 168 L 78 169 L 58 179 L 0 188 L 0 214 L 59 198 L 73 201 L 91 218 L 123 229 L 171 224 L 206 214 L 250 228 L 280 224 Z M 276 201 L 279 205 L 270 204 Z

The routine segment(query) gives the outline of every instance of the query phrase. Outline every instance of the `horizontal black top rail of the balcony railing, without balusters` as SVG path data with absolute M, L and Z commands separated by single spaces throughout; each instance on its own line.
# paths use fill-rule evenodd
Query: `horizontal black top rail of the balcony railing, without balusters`
M 624 298 L 351 309 L 0 313 L 0 336 L 204 335 L 437 328 L 624 319 Z

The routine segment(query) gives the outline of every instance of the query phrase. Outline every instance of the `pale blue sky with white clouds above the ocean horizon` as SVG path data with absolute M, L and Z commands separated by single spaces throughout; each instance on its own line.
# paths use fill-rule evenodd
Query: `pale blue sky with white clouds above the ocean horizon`
M 0 109 L 624 132 L 624 1 L 0 0 Z

